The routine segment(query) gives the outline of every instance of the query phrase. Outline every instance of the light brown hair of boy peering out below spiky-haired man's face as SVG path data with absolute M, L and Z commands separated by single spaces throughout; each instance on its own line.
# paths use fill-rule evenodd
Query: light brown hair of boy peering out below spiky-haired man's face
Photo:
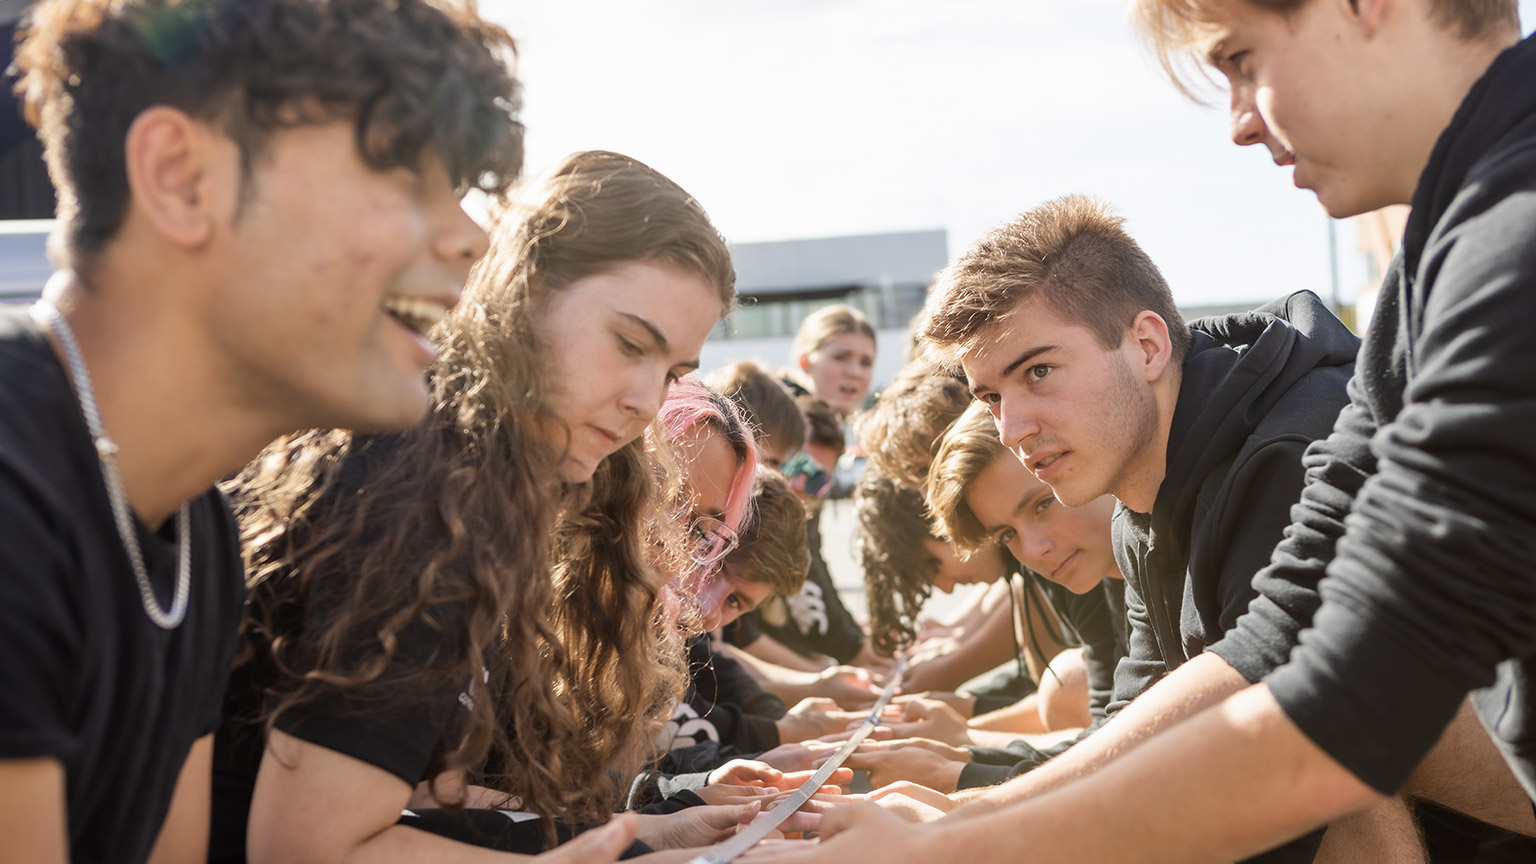
M 938 443 L 938 455 L 928 472 L 928 510 L 963 558 L 992 541 L 965 495 L 975 478 L 1001 458 L 1014 455 L 997 437 L 997 424 L 982 403 L 971 403 Z

